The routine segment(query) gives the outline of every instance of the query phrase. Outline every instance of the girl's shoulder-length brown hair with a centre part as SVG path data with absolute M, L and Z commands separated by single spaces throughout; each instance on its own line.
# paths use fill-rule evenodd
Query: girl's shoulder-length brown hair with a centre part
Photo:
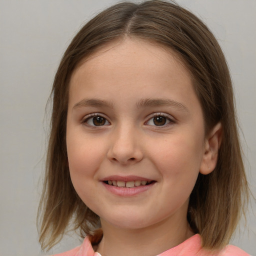
M 99 224 L 76 194 L 69 176 L 65 143 L 68 84 L 81 60 L 115 39 L 135 37 L 174 50 L 189 70 L 203 109 L 205 132 L 222 123 L 223 138 L 215 169 L 199 174 L 190 195 L 187 219 L 203 246 L 218 249 L 228 243 L 248 200 L 248 188 L 237 132 L 229 70 L 206 25 L 176 3 L 149 0 L 123 2 L 100 12 L 75 35 L 53 82 L 51 131 L 46 173 L 39 205 L 39 241 L 50 248 L 70 221 L 81 234 L 93 234 Z

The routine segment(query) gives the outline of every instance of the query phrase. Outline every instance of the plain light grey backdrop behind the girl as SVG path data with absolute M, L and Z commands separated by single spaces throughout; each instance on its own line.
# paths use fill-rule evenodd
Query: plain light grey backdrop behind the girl
M 37 242 L 36 211 L 54 73 L 82 23 L 115 0 L 0 0 L 0 255 L 35 256 L 79 244 L 74 234 L 50 252 Z M 256 0 L 177 0 L 202 18 L 226 55 L 256 195 Z M 256 255 L 255 202 L 232 243 Z M 254 211 L 254 215 L 253 215 Z

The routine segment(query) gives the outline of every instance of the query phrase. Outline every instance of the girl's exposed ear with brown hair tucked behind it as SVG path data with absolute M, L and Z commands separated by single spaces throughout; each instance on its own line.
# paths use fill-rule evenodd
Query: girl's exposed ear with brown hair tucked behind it
M 218 149 L 222 139 L 222 124 L 218 122 L 205 137 L 204 153 L 199 172 L 209 174 L 215 168 L 218 159 Z

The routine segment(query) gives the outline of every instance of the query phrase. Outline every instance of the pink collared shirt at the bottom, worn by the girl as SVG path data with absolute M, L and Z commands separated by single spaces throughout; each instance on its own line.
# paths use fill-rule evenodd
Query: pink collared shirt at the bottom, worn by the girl
M 156 256 L 205 256 L 207 253 L 201 247 L 201 237 L 195 234 L 180 243 L 179 245 L 168 249 Z M 54 254 L 52 256 L 101 256 L 98 252 L 94 252 L 88 237 L 85 237 L 82 244 L 63 253 Z M 248 253 L 240 248 L 227 245 L 217 254 L 207 254 L 207 256 L 249 256 Z

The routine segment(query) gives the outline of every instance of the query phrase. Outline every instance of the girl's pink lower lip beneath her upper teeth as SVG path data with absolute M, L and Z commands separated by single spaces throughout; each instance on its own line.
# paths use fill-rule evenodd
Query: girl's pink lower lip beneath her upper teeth
M 104 182 L 102 182 L 103 186 L 111 193 L 119 195 L 119 196 L 132 196 L 139 193 L 142 193 L 144 191 L 147 191 L 150 189 L 155 182 L 152 182 L 148 185 L 140 185 L 140 186 L 134 186 L 134 187 L 119 187 L 119 186 L 113 186 L 108 185 Z

